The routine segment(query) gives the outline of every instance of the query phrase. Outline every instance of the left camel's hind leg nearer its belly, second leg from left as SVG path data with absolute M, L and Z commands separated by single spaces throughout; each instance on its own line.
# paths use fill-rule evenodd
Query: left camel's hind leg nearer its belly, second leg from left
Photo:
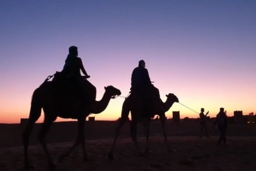
M 51 115 L 51 114 L 52 113 L 50 113 L 48 115 Z M 51 156 L 49 155 L 47 144 L 45 143 L 45 136 L 47 135 L 48 130 L 51 127 L 51 124 L 52 124 L 52 122 L 54 122 L 55 119 L 56 119 L 56 117 L 48 117 L 45 112 L 44 123 L 42 124 L 42 128 L 38 134 L 38 140 L 39 140 L 40 144 L 42 145 L 42 149 L 44 149 L 44 152 L 47 155 L 47 160 L 48 160 L 49 166 L 51 168 L 54 168 L 55 164 L 52 162 Z

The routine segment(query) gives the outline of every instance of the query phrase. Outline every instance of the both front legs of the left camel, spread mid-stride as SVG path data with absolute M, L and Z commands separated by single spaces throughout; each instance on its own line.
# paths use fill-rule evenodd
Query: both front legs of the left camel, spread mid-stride
M 86 149 L 85 149 L 85 138 L 84 138 L 84 124 L 85 124 L 86 118 L 79 118 L 77 119 L 78 122 L 78 129 L 77 129 L 77 138 L 76 141 L 74 142 L 73 146 L 65 152 L 65 154 L 62 154 L 59 156 L 58 162 L 62 162 L 69 154 L 80 144 L 82 145 L 83 148 L 83 157 L 84 161 L 87 161 L 88 157 L 86 154 Z

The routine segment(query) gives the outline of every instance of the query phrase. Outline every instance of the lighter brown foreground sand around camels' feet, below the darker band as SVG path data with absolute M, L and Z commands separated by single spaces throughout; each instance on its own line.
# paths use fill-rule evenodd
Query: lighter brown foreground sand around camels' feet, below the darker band
M 167 152 L 162 136 L 150 138 L 150 155 L 138 156 L 131 138 L 119 138 L 114 154 L 108 159 L 112 140 L 86 142 L 90 161 L 84 162 L 78 147 L 54 170 L 256 170 L 256 138 L 228 137 L 227 147 L 216 145 L 218 137 L 169 137 L 169 144 L 176 152 Z M 145 138 L 138 138 L 143 150 Z M 72 143 L 49 144 L 52 158 L 69 148 Z M 48 168 L 40 145 L 31 145 L 30 159 L 34 170 Z M 1 148 L 0 170 L 23 170 L 23 148 Z

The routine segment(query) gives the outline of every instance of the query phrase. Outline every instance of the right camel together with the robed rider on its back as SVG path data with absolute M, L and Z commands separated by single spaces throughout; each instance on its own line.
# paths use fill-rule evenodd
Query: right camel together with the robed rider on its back
M 146 147 L 144 154 L 148 154 L 148 139 L 150 136 L 150 120 L 151 117 L 159 115 L 161 120 L 161 126 L 163 130 L 163 137 L 165 138 L 165 143 L 168 148 L 169 144 L 167 142 L 167 134 L 165 129 L 165 112 L 170 109 L 170 107 L 175 103 L 179 102 L 179 99 L 174 94 L 166 95 L 166 102 L 162 102 L 160 99 L 159 91 L 154 85 L 151 84 L 150 76 L 148 70 L 145 69 L 144 60 L 138 62 L 138 67 L 133 70 L 131 74 L 131 94 L 125 99 L 122 106 L 121 119 L 119 120 L 118 127 L 116 127 L 115 139 L 111 151 L 108 154 L 108 158 L 113 158 L 113 151 L 115 148 L 116 140 L 118 138 L 120 129 L 126 120 L 128 120 L 129 113 L 131 112 L 131 122 L 130 131 L 133 143 L 136 146 L 138 154 L 141 154 L 140 148 L 137 144 L 137 123 L 143 122 L 145 135 L 146 135 Z

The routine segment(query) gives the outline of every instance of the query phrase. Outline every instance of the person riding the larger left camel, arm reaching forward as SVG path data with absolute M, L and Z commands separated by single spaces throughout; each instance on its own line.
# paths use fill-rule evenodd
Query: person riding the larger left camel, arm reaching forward
M 81 95 L 81 98 L 88 99 L 89 97 L 90 101 L 95 101 L 96 88 L 93 84 L 86 80 L 87 78 L 90 78 L 90 76 L 88 76 L 86 70 L 84 69 L 81 58 L 79 58 L 77 55 L 77 47 L 70 47 L 69 55 L 67 55 L 65 60 L 62 73 L 70 82 L 72 82 L 73 90 L 80 91 L 77 93 Z M 80 70 L 83 72 L 84 76 L 81 76 Z M 86 79 L 84 79 L 84 77 Z

